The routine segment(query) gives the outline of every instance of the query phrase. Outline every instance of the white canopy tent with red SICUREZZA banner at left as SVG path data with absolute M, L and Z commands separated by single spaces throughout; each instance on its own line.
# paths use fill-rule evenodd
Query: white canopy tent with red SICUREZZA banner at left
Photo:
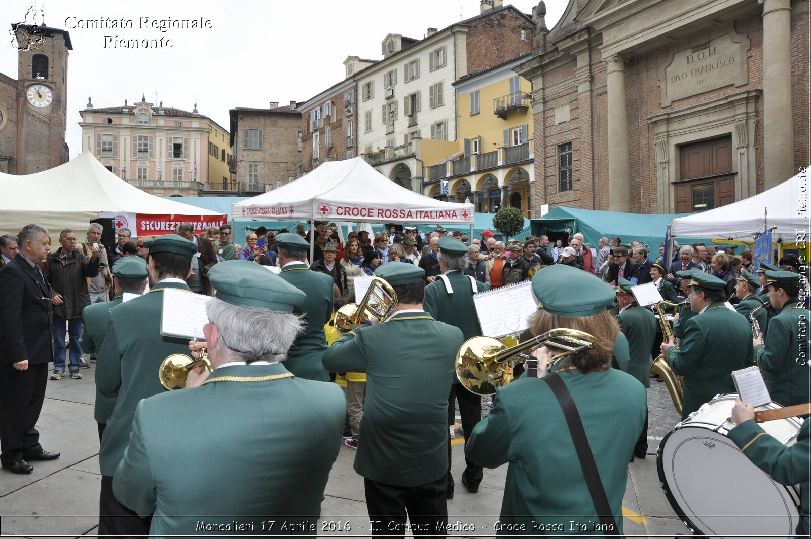
M 133 236 L 174 232 L 180 222 L 198 228 L 221 225 L 216 211 L 168 201 L 135 188 L 107 170 L 89 150 L 70 162 L 30 175 L 0 174 L 0 234 L 15 234 L 28 223 L 50 232 L 84 232 L 92 219 L 113 218 Z M 81 236 L 81 234 L 78 234 Z

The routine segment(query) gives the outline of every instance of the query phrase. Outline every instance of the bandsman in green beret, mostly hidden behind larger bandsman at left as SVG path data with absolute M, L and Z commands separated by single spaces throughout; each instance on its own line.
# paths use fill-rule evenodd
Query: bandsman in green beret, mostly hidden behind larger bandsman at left
M 141 257 L 122 257 L 113 265 L 113 287 L 115 297 L 112 301 L 88 305 L 82 312 L 82 334 L 79 345 L 85 354 L 96 356 L 107 337 L 107 313 L 123 300 L 124 292 L 143 294 L 147 286 L 147 262 Z M 98 363 L 97 363 L 98 365 Z M 115 407 L 114 397 L 105 397 L 96 388 L 96 406 L 93 417 L 99 427 L 99 441 L 107 426 L 107 420 Z

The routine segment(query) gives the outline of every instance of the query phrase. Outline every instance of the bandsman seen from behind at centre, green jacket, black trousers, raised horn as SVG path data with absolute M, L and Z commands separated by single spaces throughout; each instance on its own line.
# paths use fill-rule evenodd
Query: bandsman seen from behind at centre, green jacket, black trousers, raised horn
M 375 270 L 397 294 L 384 322 L 364 324 L 324 354 L 331 372 L 367 373 L 355 472 L 364 477 L 372 536 L 444 537 L 448 522 L 448 394 L 461 330 L 423 310 L 423 275 L 413 264 Z M 419 350 L 392 347 L 419 336 Z

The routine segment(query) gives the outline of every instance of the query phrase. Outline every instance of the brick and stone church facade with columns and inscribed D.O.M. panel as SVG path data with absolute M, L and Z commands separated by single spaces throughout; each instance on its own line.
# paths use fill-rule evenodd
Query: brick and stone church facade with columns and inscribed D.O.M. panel
M 809 2 L 543 2 L 530 59 L 535 214 L 713 209 L 808 166 Z

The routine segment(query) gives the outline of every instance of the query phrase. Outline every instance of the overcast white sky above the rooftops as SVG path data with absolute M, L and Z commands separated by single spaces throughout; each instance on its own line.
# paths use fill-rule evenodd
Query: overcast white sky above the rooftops
M 513 0 L 530 14 L 535 0 Z M 547 0 L 547 27 L 552 28 L 568 0 Z M 2 28 L 21 21 L 32 1 L 4 0 Z M 36 23 L 41 24 L 37 0 Z M 49 0 L 45 24 L 67 29 L 73 50 L 68 59 L 67 144 L 71 159 L 81 149 L 79 110 L 88 97 L 97 108 L 123 106 L 146 100 L 157 105 L 189 110 L 197 103 L 227 130 L 228 110 L 237 106 L 267 107 L 304 101 L 344 77 L 349 55 L 381 59 L 380 42 L 388 33 L 421 39 L 427 28 L 448 24 L 479 13 L 478 0 L 299 0 L 262 2 L 231 0 Z M 79 28 L 101 19 L 125 19 L 132 28 Z M 153 20 L 209 20 L 210 28 L 161 32 Z M 147 19 L 144 28 L 142 22 Z M 30 17 L 29 17 L 30 22 Z M 111 23 L 108 23 L 110 25 Z M 76 27 L 76 28 L 72 28 Z M 17 78 L 17 51 L 11 35 L 0 41 L 0 71 Z M 126 49 L 113 39 L 171 40 L 171 47 Z M 157 94 L 157 95 L 156 95 Z

